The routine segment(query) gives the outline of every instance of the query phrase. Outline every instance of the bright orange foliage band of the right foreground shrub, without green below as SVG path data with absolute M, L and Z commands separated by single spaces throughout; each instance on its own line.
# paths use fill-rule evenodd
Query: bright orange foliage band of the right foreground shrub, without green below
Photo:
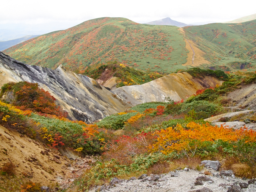
M 256 141 L 256 132 L 247 128 L 240 128 L 235 131 L 228 126 L 212 126 L 210 124 L 199 125 L 195 122 L 187 124 L 187 128 L 177 125 L 175 129 L 168 127 L 166 130 L 161 130 L 153 133 L 157 136 L 157 142 L 150 146 L 152 151 L 160 150 L 163 154 L 168 154 L 173 151 L 191 153 L 195 155 L 197 148 L 204 141 L 214 142 L 222 141 L 238 141 L 244 140 L 247 142 Z

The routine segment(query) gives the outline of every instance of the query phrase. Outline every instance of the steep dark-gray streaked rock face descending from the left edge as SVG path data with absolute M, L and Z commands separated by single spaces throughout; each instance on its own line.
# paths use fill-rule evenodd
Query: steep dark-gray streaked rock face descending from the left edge
M 0 71 L 1 86 L 10 81 L 38 83 L 55 97 L 72 120 L 92 123 L 131 107 L 94 79 L 67 71 L 63 66 L 52 70 L 27 65 L 0 52 Z

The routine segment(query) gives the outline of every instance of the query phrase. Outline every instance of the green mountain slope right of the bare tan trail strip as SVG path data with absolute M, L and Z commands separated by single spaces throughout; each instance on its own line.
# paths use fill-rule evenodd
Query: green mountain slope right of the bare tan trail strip
M 212 23 L 184 27 L 188 39 L 207 52 L 205 59 L 213 69 L 230 71 L 254 68 L 256 20 L 239 24 Z

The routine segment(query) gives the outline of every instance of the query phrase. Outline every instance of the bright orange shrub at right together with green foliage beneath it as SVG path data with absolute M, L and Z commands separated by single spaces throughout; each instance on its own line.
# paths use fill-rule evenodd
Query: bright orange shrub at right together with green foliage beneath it
M 217 153 L 221 148 L 225 153 L 239 157 L 241 161 L 251 162 L 256 151 L 256 132 L 247 128 L 232 130 L 228 127 L 217 127 L 210 124 L 191 122 L 186 128 L 177 125 L 153 133 L 157 142 L 150 146 L 152 151 L 163 154 L 172 152 L 189 156 L 208 156 Z M 243 150 L 243 151 L 242 151 Z

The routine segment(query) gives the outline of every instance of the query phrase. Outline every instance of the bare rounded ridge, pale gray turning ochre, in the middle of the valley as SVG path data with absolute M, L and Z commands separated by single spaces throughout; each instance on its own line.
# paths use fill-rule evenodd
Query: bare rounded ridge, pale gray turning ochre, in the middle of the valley
M 113 92 L 132 105 L 138 105 L 152 101 L 164 102 L 167 97 L 174 101 L 185 100 L 196 94 L 198 89 L 215 87 L 222 82 L 212 76 L 198 79 L 188 73 L 173 73 L 142 85 L 119 87 Z

